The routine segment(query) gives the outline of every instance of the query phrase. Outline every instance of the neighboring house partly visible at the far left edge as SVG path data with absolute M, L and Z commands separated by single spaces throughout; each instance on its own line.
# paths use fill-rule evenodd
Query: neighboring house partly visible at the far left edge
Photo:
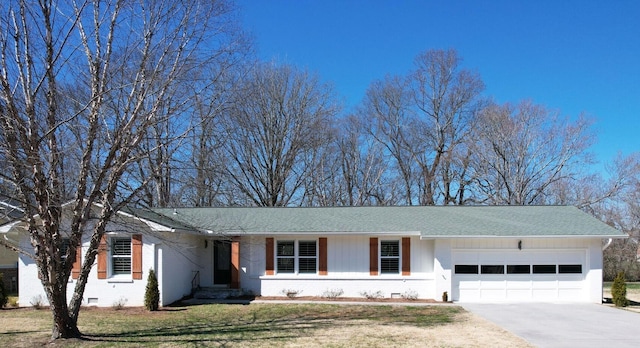
M 13 200 L 0 200 L 0 225 L 19 219 L 22 210 L 18 202 Z M 8 238 L 6 235 L 0 238 Z M 18 254 L 13 250 L 0 245 L 0 274 L 4 281 L 5 289 L 11 293 L 18 292 Z

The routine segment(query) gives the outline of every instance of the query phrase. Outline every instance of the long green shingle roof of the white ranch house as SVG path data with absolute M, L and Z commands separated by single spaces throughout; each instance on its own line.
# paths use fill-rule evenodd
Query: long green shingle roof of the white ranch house
M 404 234 L 438 237 L 625 237 L 570 206 L 170 208 L 139 217 L 220 234 Z

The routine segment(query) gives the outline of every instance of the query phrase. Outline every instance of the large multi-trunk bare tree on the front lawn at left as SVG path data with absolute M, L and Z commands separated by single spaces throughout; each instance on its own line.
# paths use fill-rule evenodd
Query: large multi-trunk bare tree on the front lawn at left
M 0 10 L 0 146 L 33 253 L 9 246 L 38 266 L 53 339 L 80 336 L 99 241 L 149 183 L 132 164 L 162 147 L 143 146 L 149 129 L 172 121 L 169 105 L 188 103 L 176 85 L 206 64 L 207 42 L 231 10 L 224 1 L 124 0 L 9 0 Z M 63 229 L 65 202 L 72 213 Z M 89 246 L 68 301 L 66 260 L 75 260 L 83 234 Z

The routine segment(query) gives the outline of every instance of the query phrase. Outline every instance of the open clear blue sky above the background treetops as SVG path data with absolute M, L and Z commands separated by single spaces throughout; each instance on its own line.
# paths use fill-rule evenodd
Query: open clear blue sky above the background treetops
M 332 83 L 346 110 L 428 49 L 456 49 L 496 102 L 595 119 L 602 162 L 640 151 L 640 1 L 238 0 L 263 60 Z

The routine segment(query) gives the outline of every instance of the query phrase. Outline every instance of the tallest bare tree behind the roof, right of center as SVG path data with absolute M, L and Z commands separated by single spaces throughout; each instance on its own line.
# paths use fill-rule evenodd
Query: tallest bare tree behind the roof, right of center
M 421 205 L 464 203 L 470 155 L 466 143 L 473 142 L 484 83 L 461 63 L 454 50 L 427 51 L 415 61 L 411 95 L 425 144 L 416 154 Z

